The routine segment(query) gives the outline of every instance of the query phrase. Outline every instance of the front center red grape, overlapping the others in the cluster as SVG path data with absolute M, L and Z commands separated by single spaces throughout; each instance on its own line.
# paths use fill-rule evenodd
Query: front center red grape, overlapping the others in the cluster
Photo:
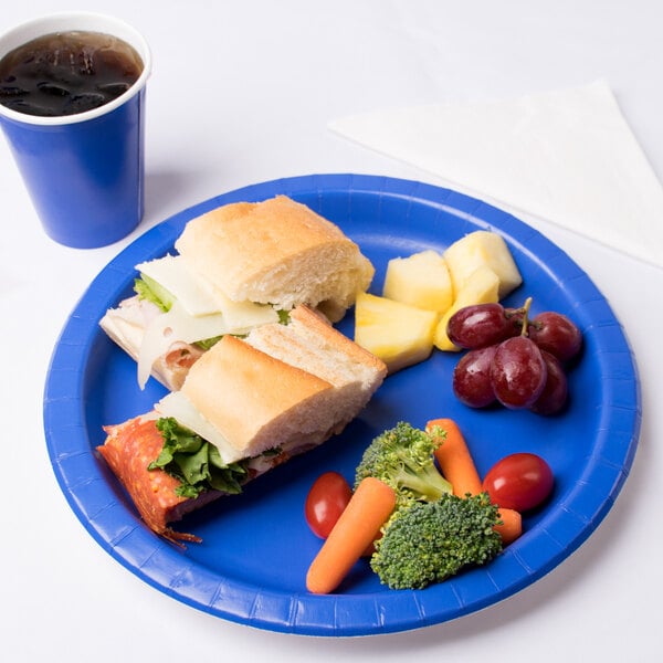
M 495 350 L 491 382 L 497 400 L 512 410 L 529 408 L 546 386 L 541 351 L 527 336 L 503 340 Z

